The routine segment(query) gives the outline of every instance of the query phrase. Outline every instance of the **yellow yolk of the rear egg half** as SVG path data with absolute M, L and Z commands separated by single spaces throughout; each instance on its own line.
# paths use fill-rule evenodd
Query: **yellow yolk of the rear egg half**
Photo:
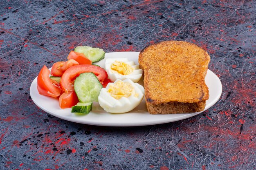
M 110 68 L 112 71 L 116 71 L 121 75 L 128 75 L 132 73 L 132 71 L 134 70 L 134 68 L 129 64 L 126 64 L 124 62 L 119 62 L 119 61 L 115 61 L 114 63 L 112 63 Z

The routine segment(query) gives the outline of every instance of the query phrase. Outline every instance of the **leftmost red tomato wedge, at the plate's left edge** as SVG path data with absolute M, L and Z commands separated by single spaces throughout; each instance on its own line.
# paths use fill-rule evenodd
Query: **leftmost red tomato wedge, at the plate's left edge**
M 58 97 L 61 95 L 61 88 L 56 81 L 49 78 L 49 73 L 50 71 L 44 65 L 37 77 L 37 90 L 41 95 Z

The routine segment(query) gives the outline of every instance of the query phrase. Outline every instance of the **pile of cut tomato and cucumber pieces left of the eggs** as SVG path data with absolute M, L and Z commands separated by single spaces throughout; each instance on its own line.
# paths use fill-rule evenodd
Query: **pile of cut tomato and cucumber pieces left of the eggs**
M 40 95 L 58 97 L 60 108 L 72 107 L 72 113 L 87 114 L 92 110 L 92 102 L 98 101 L 101 88 L 111 81 L 103 68 L 92 65 L 92 60 L 104 58 L 102 49 L 90 46 L 76 49 L 83 53 L 71 51 L 68 60 L 54 63 L 51 71 L 43 66 L 37 77 L 37 90 Z

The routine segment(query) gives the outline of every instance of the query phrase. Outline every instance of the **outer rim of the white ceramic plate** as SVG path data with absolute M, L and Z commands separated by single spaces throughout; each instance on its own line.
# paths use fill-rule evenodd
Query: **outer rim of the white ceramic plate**
M 139 52 L 135 52 L 135 51 L 120 51 L 120 52 L 110 52 L 110 53 L 106 53 L 106 54 L 111 54 L 111 53 L 137 53 L 139 54 Z M 115 57 L 114 57 L 115 58 Z M 218 102 L 218 100 L 220 99 L 220 96 L 222 94 L 222 84 L 221 84 L 221 81 L 219 79 L 219 77 L 213 73 L 211 70 L 207 70 L 207 74 L 211 74 L 211 76 L 214 76 L 215 79 L 217 80 L 216 84 L 219 84 L 219 89 L 218 91 L 220 91 L 220 93 L 218 93 L 218 96 L 208 105 L 205 106 L 204 110 L 203 111 L 200 111 L 200 112 L 195 112 L 195 113 L 178 113 L 180 116 L 175 118 L 174 120 L 170 120 L 170 119 L 173 119 L 173 118 L 169 118 L 169 119 L 165 119 L 165 120 L 158 120 L 158 121 L 146 121 L 142 124 L 137 124 L 136 122 L 133 123 L 133 122 L 127 122 L 124 124 L 124 122 L 122 123 L 118 123 L 116 122 L 115 124 L 113 124 L 112 122 L 111 123 L 108 123 L 108 122 L 105 122 L 104 124 L 99 124 L 97 122 L 94 122 L 94 121 L 84 121 L 84 119 L 76 119 L 76 120 L 71 120 L 69 119 L 68 117 L 65 117 L 63 115 L 58 115 L 56 113 L 54 113 L 54 111 L 51 111 L 51 110 L 48 110 L 47 108 L 41 106 L 40 104 L 38 104 L 38 102 L 36 101 L 36 99 L 34 98 L 35 96 L 31 95 L 33 94 L 32 92 L 32 89 L 34 86 L 36 86 L 36 82 L 37 82 L 37 77 L 36 76 L 34 78 L 34 80 L 32 81 L 31 85 L 30 85 L 30 89 L 29 89 L 29 93 L 30 93 L 30 96 L 31 96 L 31 99 L 32 101 L 36 104 L 36 106 L 38 106 L 40 109 L 42 109 L 43 111 L 45 111 L 46 113 L 50 114 L 50 115 L 53 115 L 55 117 L 58 117 L 60 119 L 63 119 L 63 120 L 67 120 L 67 121 L 72 121 L 72 122 L 75 122 L 75 123 L 80 123 L 80 124 L 87 124 L 87 125 L 94 125 L 94 126 L 119 126 L 119 127 L 129 127 L 129 126 L 148 126 L 148 125 L 157 125 L 157 124 L 165 124 L 165 123 L 171 123 L 171 122 L 174 122 L 174 121 L 180 121 L 180 120 L 183 120 L 183 119 L 187 119 L 187 118 L 190 118 L 190 117 L 193 117 L 195 115 L 198 115 L 206 110 L 208 110 L 209 108 L 211 108 L 214 104 L 216 104 L 216 102 Z M 64 110 L 64 109 L 63 109 Z M 148 112 L 147 112 L 148 113 Z M 109 114 L 113 114 L 113 113 L 109 113 Z M 128 113 L 123 113 L 123 114 L 128 114 Z M 150 113 L 148 113 L 150 114 Z M 118 115 L 118 114 L 113 114 L 113 115 Z M 171 115 L 171 114 L 167 114 L 167 115 Z M 154 115 L 154 116 L 164 116 L 164 115 L 161 115 L 161 114 L 158 114 L 158 115 Z

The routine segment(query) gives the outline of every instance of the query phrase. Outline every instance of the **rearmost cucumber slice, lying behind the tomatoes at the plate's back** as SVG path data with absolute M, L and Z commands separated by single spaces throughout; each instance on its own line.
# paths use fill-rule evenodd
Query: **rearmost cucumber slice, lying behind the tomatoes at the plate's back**
M 92 62 L 98 62 L 105 57 L 105 52 L 103 49 L 92 48 L 90 46 L 77 46 L 74 51 L 83 53 Z

